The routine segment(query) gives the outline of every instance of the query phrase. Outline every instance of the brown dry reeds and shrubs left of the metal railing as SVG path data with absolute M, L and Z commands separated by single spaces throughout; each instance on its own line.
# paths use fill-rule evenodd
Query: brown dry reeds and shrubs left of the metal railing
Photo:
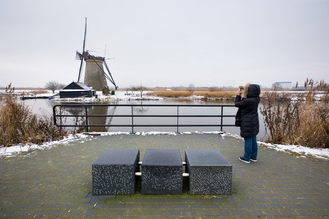
M 1 97 L 0 146 L 42 144 L 60 140 L 68 134 L 63 128 L 55 126 L 50 116 L 37 116 L 23 103 L 17 102 L 13 91 L 9 85 L 6 95 Z

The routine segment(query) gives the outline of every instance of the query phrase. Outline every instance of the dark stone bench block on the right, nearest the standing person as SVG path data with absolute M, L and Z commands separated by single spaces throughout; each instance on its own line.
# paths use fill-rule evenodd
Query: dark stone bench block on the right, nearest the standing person
M 190 194 L 230 195 L 232 165 L 217 149 L 186 149 Z

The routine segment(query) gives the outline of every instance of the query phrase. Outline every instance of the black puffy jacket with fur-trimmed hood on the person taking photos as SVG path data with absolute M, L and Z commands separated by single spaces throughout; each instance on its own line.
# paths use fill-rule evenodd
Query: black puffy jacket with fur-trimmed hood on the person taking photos
M 259 133 L 258 104 L 261 100 L 259 96 L 261 88 L 259 85 L 247 84 L 243 91 L 243 98 L 240 95 L 235 96 L 235 107 L 240 109 L 241 137 L 253 137 Z

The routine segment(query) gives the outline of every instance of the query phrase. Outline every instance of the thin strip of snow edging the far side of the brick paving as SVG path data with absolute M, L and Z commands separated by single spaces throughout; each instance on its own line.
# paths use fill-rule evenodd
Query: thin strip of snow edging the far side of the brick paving
M 181 132 L 181 134 L 221 134 L 222 138 L 226 136 L 241 138 L 238 135 L 224 133 L 224 132 Z M 21 152 L 33 152 L 35 150 L 44 150 L 55 146 L 63 146 L 70 142 L 74 141 L 90 141 L 93 139 L 93 135 L 119 135 L 119 134 L 130 134 L 129 132 L 90 132 L 87 134 L 77 134 L 77 135 L 69 135 L 61 141 L 48 142 L 43 145 L 16 145 L 11 147 L 3 147 L 0 148 L 0 156 L 10 157 L 10 156 L 20 156 Z M 136 135 L 156 135 L 156 134 L 169 134 L 176 135 L 175 132 L 136 132 Z M 242 139 L 242 138 L 241 138 Z M 264 142 L 258 142 L 260 147 L 269 147 L 275 149 L 277 151 L 283 151 L 286 153 L 290 153 L 294 155 L 298 154 L 298 157 L 306 158 L 307 156 L 314 156 L 318 158 L 322 158 L 325 160 L 329 160 L 329 149 L 317 149 L 317 148 L 307 148 L 303 146 L 296 145 L 272 145 Z M 28 154 L 24 154 L 24 156 L 28 156 Z

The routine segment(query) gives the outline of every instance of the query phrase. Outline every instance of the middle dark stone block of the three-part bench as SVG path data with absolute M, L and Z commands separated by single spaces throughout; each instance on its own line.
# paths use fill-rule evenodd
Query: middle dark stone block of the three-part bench
M 142 194 L 181 194 L 183 166 L 178 149 L 147 149 L 141 165 Z

